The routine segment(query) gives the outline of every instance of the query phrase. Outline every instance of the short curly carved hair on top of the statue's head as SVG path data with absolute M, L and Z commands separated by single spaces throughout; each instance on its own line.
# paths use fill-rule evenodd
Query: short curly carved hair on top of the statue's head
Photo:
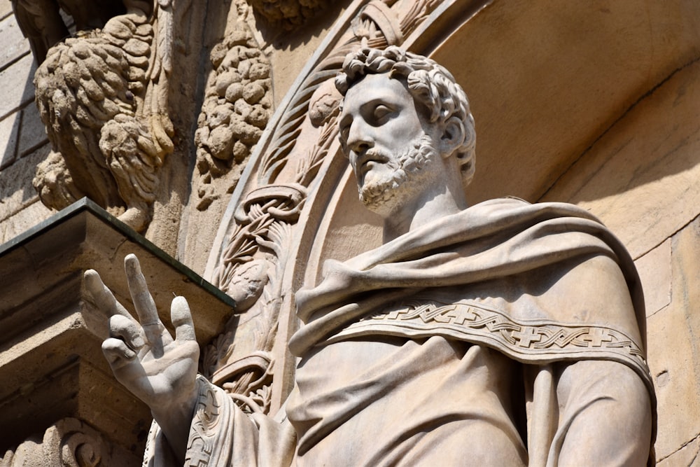
M 458 120 L 464 130 L 464 140 L 455 152 L 466 187 L 474 176 L 476 134 L 467 95 L 454 76 L 434 60 L 396 46 L 384 50 L 363 47 L 345 57 L 343 71 L 335 78 L 335 87 L 344 97 L 347 90 L 366 75 L 384 73 L 406 83 L 416 102 L 423 104 L 430 123 L 444 124 L 449 120 L 457 123 Z

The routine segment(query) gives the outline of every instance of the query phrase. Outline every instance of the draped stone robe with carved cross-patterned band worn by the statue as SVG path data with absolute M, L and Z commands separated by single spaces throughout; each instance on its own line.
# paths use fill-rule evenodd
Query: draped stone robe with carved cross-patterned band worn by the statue
M 483 202 L 329 260 L 296 302 L 303 324 L 289 348 L 300 360 L 285 411 L 246 417 L 200 377 L 186 465 L 650 458 L 639 279 L 587 211 Z M 165 450 L 156 427 L 146 459 L 158 465 Z

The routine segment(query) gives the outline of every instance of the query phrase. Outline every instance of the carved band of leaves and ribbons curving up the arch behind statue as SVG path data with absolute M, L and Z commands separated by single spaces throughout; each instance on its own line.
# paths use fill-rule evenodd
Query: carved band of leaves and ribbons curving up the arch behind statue
M 346 54 L 360 43 L 379 48 L 400 45 L 439 3 L 414 1 L 402 10 L 391 7 L 395 1 L 368 2 L 358 11 L 349 39 L 339 41 L 342 45 L 311 71 L 266 141 L 254 179 L 258 187 L 242 198 L 212 279 L 242 306 L 227 332 L 202 354 L 204 373 L 244 410 L 269 409 L 271 350 L 291 237 L 307 192 L 337 140 L 341 97 L 333 78 Z M 244 349 L 241 323 L 251 327 L 251 322 L 254 342 Z

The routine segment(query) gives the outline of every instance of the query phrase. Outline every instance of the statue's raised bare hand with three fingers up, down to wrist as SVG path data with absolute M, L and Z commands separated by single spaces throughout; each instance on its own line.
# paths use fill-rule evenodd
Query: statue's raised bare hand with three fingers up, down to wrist
M 102 351 L 118 381 L 151 407 L 170 445 L 179 451 L 180 445 L 186 446 L 197 397 L 200 347 L 190 307 L 184 297 L 172 301 L 173 339 L 158 318 L 137 257 L 128 255 L 124 267 L 139 321 L 114 298 L 97 272 L 85 272 L 87 291 L 110 316 L 109 338 L 102 343 Z

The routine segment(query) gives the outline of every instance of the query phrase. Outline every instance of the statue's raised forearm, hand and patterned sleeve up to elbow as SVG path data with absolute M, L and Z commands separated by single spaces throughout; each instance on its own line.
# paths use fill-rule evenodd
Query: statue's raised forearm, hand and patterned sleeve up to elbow
M 125 270 L 138 321 L 94 270 L 85 272 L 85 287 L 110 316 L 102 351 L 115 377 L 151 408 L 147 465 L 288 465 L 295 447 L 290 424 L 262 414 L 248 417 L 223 389 L 197 376 L 200 347 L 187 300 L 172 301 L 173 338 L 136 256 L 125 258 Z

